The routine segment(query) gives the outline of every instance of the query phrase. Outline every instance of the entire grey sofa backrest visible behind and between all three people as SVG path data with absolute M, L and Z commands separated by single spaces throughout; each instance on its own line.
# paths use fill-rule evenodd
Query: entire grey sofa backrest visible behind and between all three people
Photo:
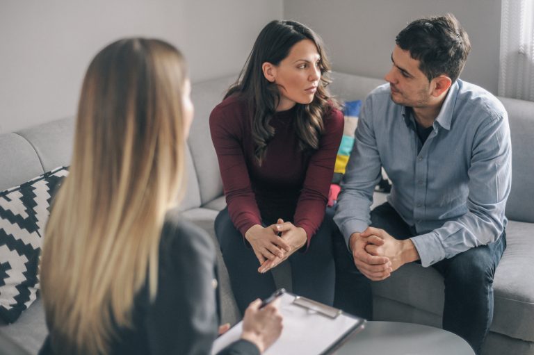
M 188 188 L 181 203 L 187 210 L 223 195 L 218 161 L 209 133 L 209 114 L 223 99 L 235 75 L 193 84 L 195 119 L 188 139 Z M 340 101 L 364 100 L 380 79 L 332 73 L 330 91 Z M 499 97 L 510 119 L 512 191 L 506 206 L 510 220 L 534 222 L 534 102 Z M 0 134 L 0 190 L 11 188 L 60 165 L 69 165 L 74 119 L 58 119 L 15 133 Z

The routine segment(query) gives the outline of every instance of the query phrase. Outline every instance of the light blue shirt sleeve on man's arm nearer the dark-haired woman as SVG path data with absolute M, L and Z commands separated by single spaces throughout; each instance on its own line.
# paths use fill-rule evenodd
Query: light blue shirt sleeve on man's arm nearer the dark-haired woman
M 362 232 L 371 224 L 373 190 L 380 181 L 382 167 L 373 127 L 374 118 L 370 95 L 359 115 L 354 147 L 348 159 L 334 215 L 334 222 L 347 245 L 353 233 Z

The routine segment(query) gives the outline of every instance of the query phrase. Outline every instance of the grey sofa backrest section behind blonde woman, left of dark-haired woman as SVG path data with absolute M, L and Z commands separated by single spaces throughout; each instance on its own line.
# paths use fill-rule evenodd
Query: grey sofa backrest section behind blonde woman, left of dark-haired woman
M 236 76 L 192 85 L 195 119 L 186 149 L 186 195 L 180 209 L 199 207 L 223 195 L 218 162 L 209 134 L 209 114 Z M 0 190 L 12 188 L 60 165 L 70 165 L 72 117 L 0 134 Z

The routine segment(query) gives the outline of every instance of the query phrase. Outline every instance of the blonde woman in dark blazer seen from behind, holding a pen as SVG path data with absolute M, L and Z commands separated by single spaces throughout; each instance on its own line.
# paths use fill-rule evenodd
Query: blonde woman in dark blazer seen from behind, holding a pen
M 42 249 L 40 354 L 209 353 L 214 247 L 169 212 L 184 190 L 189 91 L 184 58 L 159 40 L 119 40 L 92 60 Z M 280 336 L 277 304 L 259 304 L 223 354 L 259 354 Z

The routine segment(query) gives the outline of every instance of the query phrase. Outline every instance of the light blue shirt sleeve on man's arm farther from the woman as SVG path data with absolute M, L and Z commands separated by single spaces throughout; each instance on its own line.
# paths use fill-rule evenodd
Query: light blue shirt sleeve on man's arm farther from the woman
M 508 115 L 487 120 L 478 129 L 469 166 L 468 212 L 441 228 L 411 238 L 421 265 L 452 258 L 467 249 L 494 242 L 505 228 L 511 187 L 512 152 Z

